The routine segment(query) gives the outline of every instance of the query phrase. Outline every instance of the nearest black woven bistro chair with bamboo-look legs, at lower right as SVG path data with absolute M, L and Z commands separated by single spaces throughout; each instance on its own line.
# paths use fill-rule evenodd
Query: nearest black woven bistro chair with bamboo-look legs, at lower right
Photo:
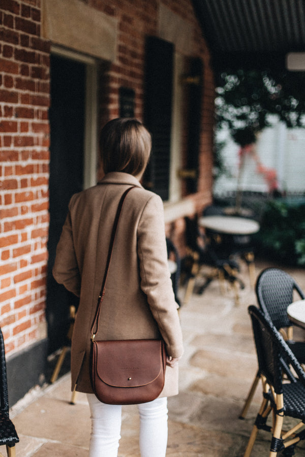
M 243 457 L 249 457 L 259 430 L 271 432 L 269 457 L 279 451 L 294 455 L 294 446 L 305 438 L 305 372 L 275 325 L 255 306 L 248 308 L 252 320 L 259 372 L 263 381 L 263 401 Z M 282 361 L 294 370 L 292 382 L 283 381 Z M 267 425 L 272 412 L 272 425 Z M 283 431 L 284 417 L 299 419 Z M 291 424 L 290 424 L 291 426 Z

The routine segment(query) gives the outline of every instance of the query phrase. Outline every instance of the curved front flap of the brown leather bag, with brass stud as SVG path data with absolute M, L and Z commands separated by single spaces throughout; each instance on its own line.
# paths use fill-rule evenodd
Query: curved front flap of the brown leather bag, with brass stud
M 162 340 L 94 341 L 99 378 L 115 387 L 137 387 L 153 382 L 165 368 Z

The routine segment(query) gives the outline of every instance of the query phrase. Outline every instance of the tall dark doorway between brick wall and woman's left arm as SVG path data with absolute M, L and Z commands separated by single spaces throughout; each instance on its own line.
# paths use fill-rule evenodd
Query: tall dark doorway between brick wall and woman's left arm
M 50 117 L 50 228 L 48 240 L 47 308 L 49 354 L 66 342 L 69 306 L 78 299 L 52 276 L 56 245 L 71 196 L 83 189 L 84 63 L 51 55 Z

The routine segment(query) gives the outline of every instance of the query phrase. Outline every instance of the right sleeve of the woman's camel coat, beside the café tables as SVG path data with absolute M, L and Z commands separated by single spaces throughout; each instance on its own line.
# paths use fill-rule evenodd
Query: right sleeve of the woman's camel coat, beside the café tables
M 167 262 L 163 203 L 153 195 L 146 203 L 137 230 L 141 289 L 158 323 L 168 355 L 180 357 L 182 332 Z

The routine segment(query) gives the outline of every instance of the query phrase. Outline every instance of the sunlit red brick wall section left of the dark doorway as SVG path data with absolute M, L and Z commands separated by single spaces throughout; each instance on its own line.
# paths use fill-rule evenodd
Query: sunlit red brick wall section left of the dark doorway
M 45 321 L 49 44 L 40 39 L 40 21 L 40 0 L 1 2 L 0 325 L 7 353 L 41 339 Z

